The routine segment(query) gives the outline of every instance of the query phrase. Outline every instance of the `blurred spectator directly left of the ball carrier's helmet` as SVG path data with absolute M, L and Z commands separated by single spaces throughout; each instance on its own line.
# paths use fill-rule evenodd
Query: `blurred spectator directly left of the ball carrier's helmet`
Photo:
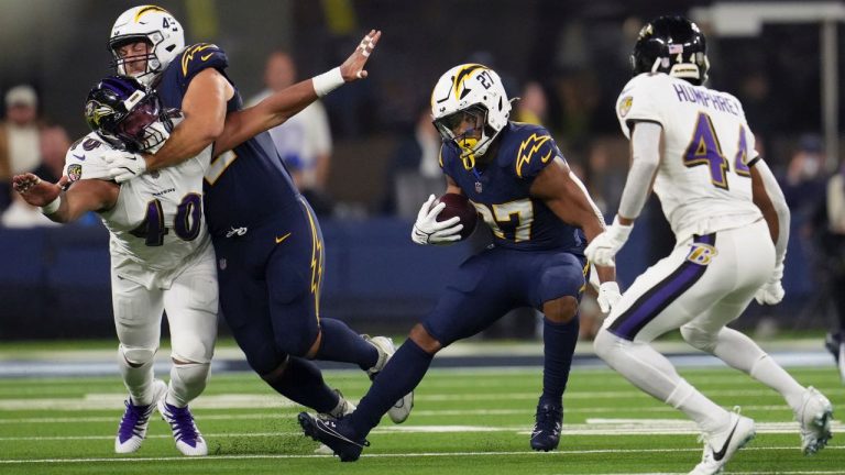
M 387 170 L 384 211 L 403 218 L 416 218 L 419 202 L 443 189 L 440 173 L 442 140 L 431 123 L 428 101 L 420 103 L 417 122 L 396 148 Z

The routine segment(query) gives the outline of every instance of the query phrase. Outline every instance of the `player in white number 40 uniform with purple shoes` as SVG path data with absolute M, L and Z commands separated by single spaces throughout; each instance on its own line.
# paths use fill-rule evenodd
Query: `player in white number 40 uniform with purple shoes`
M 156 405 L 167 411 L 172 426 L 177 421 L 182 453 L 208 453 L 188 402 L 206 387 L 217 338 L 217 269 L 201 206 L 212 148 L 143 179 L 123 185 L 102 179 L 110 167 L 105 150 L 156 151 L 178 120 L 138 80 L 105 78 L 85 106 L 94 132 L 67 152 L 59 181 L 67 191 L 32 174 L 13 179 L 21 196 L 53 221 L 70 222 L 96 211 L 109 230 L 118 365 L 129 391 L 117 453 L 141 446 Z M 153 374 L 165 310 L 173 360 L 169 385 Z

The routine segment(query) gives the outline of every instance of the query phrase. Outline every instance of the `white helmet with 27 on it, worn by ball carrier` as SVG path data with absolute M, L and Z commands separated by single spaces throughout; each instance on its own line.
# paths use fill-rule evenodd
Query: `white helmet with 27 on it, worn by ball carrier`
M 484 155 L 493 139 L 507 125 L 511 101 L 496 71 L 480 64 L 462 64 L 446 71 L 431 91 L 431 117 L 443 140 L 461 150 L 467 169 L 475 166 L 475 157 Z M 456 135 L 465 120 L 475 120 L 476 129 Z M 473 136 L 467 136 L 475 132 Z

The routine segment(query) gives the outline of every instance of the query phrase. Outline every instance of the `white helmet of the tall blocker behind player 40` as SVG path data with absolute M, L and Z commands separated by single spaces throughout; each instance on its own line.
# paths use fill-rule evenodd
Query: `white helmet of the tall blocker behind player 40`
M 124 11 L 111 27 L 109 51 L 114 56 L 118 74 L 127 75 L 127 59 L 121 58 L 118 48 L 127 43 L 145 41 L 151 45 L 146 55 L 146 69 L 135 78 L 149 86 L 155 77 L 185 48 L 185 31 L 178 21 L 165 9 L 155 5 L 133 7 Z

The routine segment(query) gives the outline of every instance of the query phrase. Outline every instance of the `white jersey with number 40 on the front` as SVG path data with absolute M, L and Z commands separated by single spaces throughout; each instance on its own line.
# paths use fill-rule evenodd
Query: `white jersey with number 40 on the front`
M 96 133 L 74 144 L 65 158 L 70 181 L 103 178 L 109 166 Z M 147 288 L 168 288 L 210 245 L 202 216 L 202 178 L 211 146 L 179 165 L 123 183 L 114 207 L 99 211 L 111 233 L 113 272 Z

